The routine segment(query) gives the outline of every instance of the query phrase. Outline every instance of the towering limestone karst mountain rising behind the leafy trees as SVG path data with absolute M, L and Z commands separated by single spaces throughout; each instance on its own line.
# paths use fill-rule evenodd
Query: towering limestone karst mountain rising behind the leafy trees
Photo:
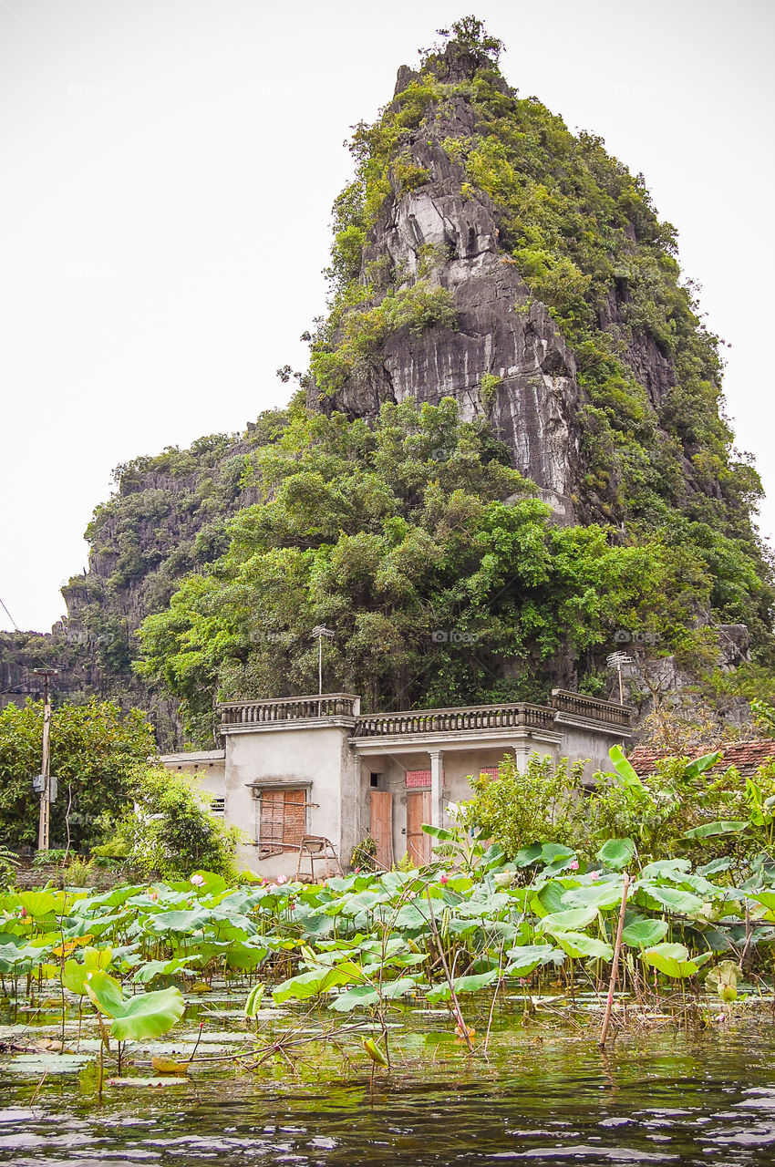
M 390 538 L 385 532 L 398 512 L 359 511 L 352 488 L 347 505 L 314 530 L 289 526 L 285 512 L 275 520 L 294 467 L 303 463 L 312 474 L 305 489 L 314 478 L 324 498 L 347 464 L 347 457 L 331 461 L 329 449 L 328 461 L 316 466 L 309 448 L 293 443 L 306 425 L 314 446 L 310 417 L 344 414 L 354 426 L 376 428 L 385 403 L 438 405 L 447 398 L 463 420 L 480 426 L 480 436 L 487 431 L 496 439 L 488 457 L 529 480 L 528 490 L 551 508 L 540 531 L 547 560 L 556 554 L 551 531 L 573 524 L 587 532 L 594 526 L 600 545 L 629 553 L 630 562 L 642 550 L 645 599 L 628 593 L 616 619 L 626 621 L 627 634 L 649 621 L 642 627 L 651 638 L 634 641 L 633 650 L 644 657 L 650 647 L 662 658 L 659 677 L 671 678 L 673 687 L 691 682 L 718 693 L 724 685 L 714 666 L 728 676 L 749 650 L 757 662 L 752 684 L 770 676 L 773 593 L 752 523 L 759 480 L 735 454 L 722 412 L 718 340 L 682 279 L 675 231 L 659 221 L 643 179 L 599 138 L 571 133 L 537 98 L 508 84 L 500 49 L 469 18 L 423 56 L 418 70 L 399 69 L 393 97 L 372 125 L 355 132 L 355 176 L 334 207 L 329 308 L 310 338 L 310 366 L 299 375 L 301 390 L 289 410 L 261 417 L 242 438 L 203 439 L 190 450 L 119 468 L 116 495 L 89 527 L 90 568 L 64 588 L 68 620 L 40 643 L 5 637 L 6 687 L 23 693 L 35 654 L 54 656 L 74 696 L 99 692 L 145 704 L 169 743 L 180 740 L 177 698 L 189 700 L 197 654 L 204 662 L 195 682 L 200 710 L 226 684 L 252 685 L 256 692 L 247 696 L 263 696 L 279 678 L 298 691 L 314 680 L 305 680 L 305 629 L 331 612 L 342 614 L 342 684 L 364 684 L 348 661 L 363 652 L 368 621 L 391 616 L 393 598 L 379 592 L 376 572 L 370 592 L 321 600 L 321 572 L 330 571 L 331 548 L 347 539 L 396 540 L 398 526 L 390 527 Z M 418 483 L 433 484 L 434 467 L 442 480 L 448 454 L 444 447 L 426 450 L 412 471 Z M 375 452 L 362 438 L 348 456 L 373 469 Z M 312 512 L 312 503 L 307 496 L 301 511 Z M 412 506 L 398 515 L 400 522 L 431 539 L 431 520 Z M 230 526 L 235 516 L 237 527 Z M 245 565 L 300 547 L 315 566 L 305 566 L 308 587 L 299 593 L 298 612 L 280 616 L 267 601 L 268 586 Z M 655 555 L 661 584 L 649 575 Z M 606 587 L 616 586 L 617 571 L 612 568 Z M 455 581 L 448 579 L 442 592 L 434 572 L 428 567 L 427 581 L 421 573 L 412 581 L 418 615 L 407 637 L 414 637 L 417 659 L 427 638 L 423 622 L 453 610 Z M 668 596 L 657 612 L 649 607 L 649 589 L 666 587 L 665 580 L 683 606 L 668 610 Z M 589 593 L 595 600 L 602 586 L 574 586 L 580 609 L 592 612 Z M 487 594 L 477 596 L 474 613 L 465 609 L 460 584 L 454 610 L 474 629 L 470 635 L 484 644 L 491 634 L 476 623 L 488 603 L 498 635 L 479 680 L 468 673 L 461 680 L 449 651 L 439 665 L 448 692 L 437 684 L 434 700 L 529 694 L 553 678 L 606 691 L 605 657 L 619 647 L 613 607 L 581 652 L 572 637 L 563 641 L 565 629 L 553 638 L 540 630 L 547 609 L 538 630 L 531 634 L 529 621 L 517 628 L 515 613 L 535 598 L 517 589 L 505 596 L 511 607 L 496 610 L 504 601 L 498 587 L 491 603 Z M 601 592 L 596 599 L 602 612 L 608 598 Z M 259 613 L 274 629 L 271 643 L 257 640 Z M 133 671 L 135 634 L 154 614 L 155 663 L 140 678 Z M 725 626 L 734 626 L 734 636 L 722 634 Z M 205 636 L 221 648 L 204 644 Z M 641 664 L 634 700 L 648 698 L 648 662 Z M 528 665 L 532 687 L 519 689 L 519 670 Z M 489 677 L 489 689 L 481 677 Z M 421 703 L 428 692 L 417 687 L 410 699 Z

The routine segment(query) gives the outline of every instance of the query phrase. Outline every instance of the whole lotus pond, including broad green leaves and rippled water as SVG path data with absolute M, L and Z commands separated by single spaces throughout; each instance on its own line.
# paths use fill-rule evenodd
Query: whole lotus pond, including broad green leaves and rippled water
M 0 1154 L 769 1162 L 771 872 L 630 878 L 626 841 L 586 871 L 546 844 L 314 886 L 11 889 Z

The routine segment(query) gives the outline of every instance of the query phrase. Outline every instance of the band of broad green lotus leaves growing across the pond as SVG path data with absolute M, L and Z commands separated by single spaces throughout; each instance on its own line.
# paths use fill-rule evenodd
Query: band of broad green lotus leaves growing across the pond
M 498 847 L 472 845 L 461 830 L 432 833 L 440 847 L 421 872 L 356 873 L 323 885 L 280 876 L 232 887 L 196 872 L 169 886 L 99 894 L 8 890 L 0 897 L 0 973 L 16 980 L 36 971 L 41 980 L 88 994 L 107 1016 L 126 1009 L 120 980 L 142 990 L 159 978 L 201 985 L 251 973 L 272 986 L 278 1005 L 320 1000 L 340 1013 L 373 1009 L 383 1034 L 384 1011 L 402 998 L 448 1002 L 465 1036 L 460 1000 L 470 992 L 503 983 L 515 992 L 518 979 L 533 991 L 557 987 L 558 978 L 571 994 L 577 978 L 607 991 L 624 896 L 620 984 L 640 1000 L 656 985 L 655 970 L 697 990 L 699 971 L 715 965 L 706 980 L 714 994 L 720 980 L 734 987 L 745 976 L 761 984 L 769 970 L 775 889 L 766 862 L 745 874 L 718 874 L 717 865 L 711 879 L 712 869 L 692 871 L 687 859 L 640 865 L 619 839 L 588 864 L 556 843 L 504 862 Z M 469 860 L 455 868 L 463 850 Z M 112 983 L 97 970 L 110 970 Z M 249 1016 L 259 994 L 253 984 Z M 720 995 L 731 1002 L 736 994 Z M 142 991 L 134 999 L 142 1012 L 172 1004 Z

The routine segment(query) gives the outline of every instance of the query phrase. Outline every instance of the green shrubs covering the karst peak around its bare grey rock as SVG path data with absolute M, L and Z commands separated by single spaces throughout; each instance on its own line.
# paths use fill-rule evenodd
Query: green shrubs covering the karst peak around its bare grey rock
M 372 244 L 380 216 L 396 214 L 412 149 L 438 144 L 463 197 L 495 208 L 503 261 L 516 265 L 525 296 L 549 307 L 573 354 L 584 393 L 580 512 L 615 523 L 631 541 L 656 534 L 677 559 L 684 548 L 699 553 L 714 580 L 714 616 L 747 623 L 761 648 L 773 599 L 750 523 L 761 484 L 734 450 L 719 342 L 680 278 L 675 229 L 659 221 L 643 177 L 600 138 L 571 133 L 510 89 L 497 68 L 501 42 L 481 21 L 466 18 L 447 36 L 377 120 L 356 128 L 356 175 L 334 208 L 331 309 L 313 344 L 319 389 L 328 393 L 348 375 L 357 383 L 352 331 L 379 361 L 364 321 L 413 292 L 406 272 L 385 266 L 388 256 L 375 259 Z M 647 364 L 658 384 L 647 383 Z M 482 383 L 486 407 L 495 389 Z M 745 598 L 726 578 L 731 564 L 748 576 Z

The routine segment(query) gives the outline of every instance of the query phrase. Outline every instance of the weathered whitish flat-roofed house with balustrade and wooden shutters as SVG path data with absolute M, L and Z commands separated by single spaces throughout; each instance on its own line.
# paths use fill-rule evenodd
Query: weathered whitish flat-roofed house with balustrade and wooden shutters
M 631 711 L 554 690 L 524 703 L 361 715 L 352 693 L 236 701 L 221 706 L 223 750 L 168 754 L 162 762 L 201 782 L 229 823 L 250 838 L 240 859 L 261 874 L 293 874 L 302 839 L 328 839 L 344 866 L 368 833 L 389 867 L 407 851 L 430 857 L 423 823 L 448 823 L 469 798 L 468 778 L 504 755 L 582 759 L 586 777 L 630 739 Z

